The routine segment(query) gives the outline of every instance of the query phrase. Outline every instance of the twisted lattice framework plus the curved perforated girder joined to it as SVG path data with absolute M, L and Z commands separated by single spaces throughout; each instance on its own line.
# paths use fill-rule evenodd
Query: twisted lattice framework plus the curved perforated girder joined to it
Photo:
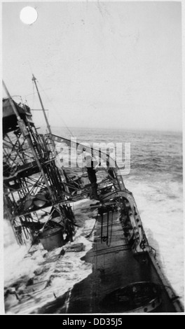
M 46 225 L 46 218 L 52 226 L 62 225 L 70 239 L 74 234 L 74 214 L 69 202 L 88 196 L 90 182 L 83 183 L 81 168 L 64 170 L 56 165 L 55 145 L 65 143 L 69 148 L 78 148 L 78 153 L 85 150 L 108 164 L 97 174 L 101 200 L 111 198 L 109 206 L 120 207 L 133 251 L 142 252 L 148 247 L 132 193 L 125 189 L 121 173 L 108 154 L 74 142 L 71 145 L 68 139 L 53 134 L 39 134 L 29 106 L 11 98 L 3 100 L 3 132 L 4 201 L 19 244 L 30 237 L 34 240 L 35 232 Z M 125 225 L 127 221 L 130 226 Z

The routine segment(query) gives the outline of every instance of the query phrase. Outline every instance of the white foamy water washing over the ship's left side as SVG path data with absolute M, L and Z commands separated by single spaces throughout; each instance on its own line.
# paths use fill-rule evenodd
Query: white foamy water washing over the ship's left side
M 81 203 L 75 205 L 75 213 L 79 214 Z M 88 204 L 88 202 L 87 202 Z M 92 213 L 91 213 L 92 215 Z M 85 216 L 83 218 L 83 216 Z M 85 220 L 84 220 L 85 219 Z M 77 220 L 78 223 L 78 220 Z M 41 244 L 33 248 L 34 253 L 28 254 L 28 246 L 18 246 L 11 243 L 6 246 L 4 251 L 4 271 L 5 271 L 5 286 L 12 286 L 13 283 L 21 281 L 18 288 L 21 302 L 18 302 L 14 297 L 13 301 L 6 304 L 6 310 L 13 314 L 30 314 L 36 312 L 48 302 L 55 300 L 71 289 L 75 283 L 85 279 L 92 272 L 92 265 L 81 260 L 83 256 L 92 248 L 92 242 L 85 238 L 85 235 L 90 233 L 95 224 L 95 219 L 88 216 L 87 213 L 81 216 L 81 228 L 76 230 L 74 244 L 82 243 L 83 251 L 74 253 L 66 253 L 60 257 L 62 248 L 57 248 L 53 251 L 46 252 Z M 5 225 L 6 230 L 10 227 Z M 64 246 L 67 250 L 69 244 Z M 41 272 L 39 276 L 34 274 L 35 271 Z M 42 272 L 43 271 L 43 272 Z M 28 279 L 33 278 L 34 283 L 42 281 L 49 282 L 48 288 L 41 287 L 38 292 L 25 295 L 27 291 L 26 283 Z

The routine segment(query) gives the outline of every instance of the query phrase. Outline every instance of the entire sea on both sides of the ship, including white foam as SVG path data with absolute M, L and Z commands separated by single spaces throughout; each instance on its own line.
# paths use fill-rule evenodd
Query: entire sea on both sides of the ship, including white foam
M 91 128 L 70 128 L 69 132 L 66 128 L 59 127 L 53 127 L 52 131 L 53 134 L 67 138 L 72 133 L 82 144 L 123 143 L 123 151 L 124 144 L 130 143 L 130 173 L 123 175 L 125 187 L 135 197 L 146 237 L 149 244 L 156 249 L 160 267 L 181 302 L 184 302 L 182 134 Z M 92 241 L 86 239 L 85 235 L 92 230 L 95 220 L 92 214 L 81 214 L 81 202 L 75 207 L 76 218 L 81 227 L 78 228 L 74 241 L 83 241 L 85 251 L 78 253 L 78 257 L 66 253 L 62 263 L 55 265 L 49 261 L 52 253 L 57 252 L 52 251 L 42 274 L 43 280 L 52 276 L 52 288 L 41 290 L 34 298 L 27 296 L 22 303 L 13 300 L 6 305 L 7 313 L 34 313 L 38 307 L 52 300 L 53 293 L 59 296 L 70 291 L 75 283 L 92 271 L 90 264 L 84 263 L 81 258 L 92 246 Z M 34 271 L 41 267 L 41 260 L 46 252 L 39 246 L 33 255 L 28 256 L 28 248 L 29 246 L 20 247 L 15 244 L 11 228 L 4 221 L 6 287 L 20 278 L 23 289 L 27 278 L 31 274 L 34 276 Z

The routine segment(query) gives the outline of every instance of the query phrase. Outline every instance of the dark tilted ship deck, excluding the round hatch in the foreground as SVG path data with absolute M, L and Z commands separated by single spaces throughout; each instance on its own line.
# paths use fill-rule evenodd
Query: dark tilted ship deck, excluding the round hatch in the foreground
M 107 235 L 107 214 L 98 216 L 93 232 L 93 248 L 85 255 L 85 262 L 93 265 L 93 272 L 83 281 L 76 283 L 68 292 L 58 297 L 39 310 L 41 314 L 107 314 L 124 313 L 121 304 L 109 305 L 109 294 L 128 286 L 130 283 L 149 281 L 158 284 L 161 289 L 162 302 L 152 312 L 182 311 L 177 298 L 172 298 L 167 289 L 169 286 L 160 267 L 155 264 L 149 253 L 133 255 L 132 248 L 125 237 L 118 212 L 113 212 L 109 219 L 109 239 L 103 241 L 102 235 Z M 106 240 L 106 239 L 104 239 Z M 162 272 L 161 272 L 161 275 Z M 161 279 L 162 277 L 162 279 Z M 168 290 L 170 291 L 170 290 Z M 131 311 L 131 310 L 130 310 Z M 130 312 L 129 311 L 129 312 Z M 137 312 L 149 311 L 147 307 Z

